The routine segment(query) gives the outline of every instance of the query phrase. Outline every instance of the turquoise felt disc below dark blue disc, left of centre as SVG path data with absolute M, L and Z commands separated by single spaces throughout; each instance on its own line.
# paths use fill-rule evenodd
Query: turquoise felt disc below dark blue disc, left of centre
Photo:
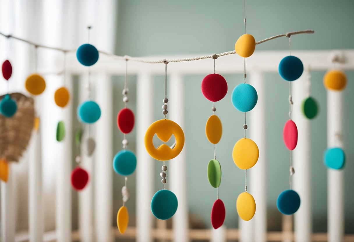
M 84 123 L 94 123 L 101 117 L 101 109 L 93 101 L 84 101 L 78 106 L 78 117 Z

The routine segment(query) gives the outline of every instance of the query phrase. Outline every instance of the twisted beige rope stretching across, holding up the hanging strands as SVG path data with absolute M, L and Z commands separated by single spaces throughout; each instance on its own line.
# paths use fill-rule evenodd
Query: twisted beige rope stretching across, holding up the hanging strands
M 296 35 L 296 34 L 313 34 L 315 33 L 314 30 L 302 30 L 302 31 L 293 31 L 293 32 L 288 32 L 286 34 L 279 34 L 279 35 L 275 35 L 275 36 L 272 36 L 272 37 L 269 37 L 269 38 L 266 38 L 266 39 L 263 39 L 263 40 L 260 40 L 260 41 L 257 41 L 256 42 L 256 45 L 258 44 L 262 44 L 266 41 L 269 41 L 269 40 L 273 40 L 273 39 L 276 39 L 276 38 L 280 38 L 280 37 L 290 37 L 291 35 Z M 13 36 L 13 35 L 6 35 L 4 33 L 1 33 L 0 32 L 0 35 L 4 36 L 5 38 L 12 38 L 12 39 L 16 39 L 16 40 L 19 40 L 19 41 L 23 41 L 23 42 L 26 42 L 30 45 L 33 45 L 35 47 L 40 47 L 40 48 L 47 48 L 47 49 L 51 49 L 51 50 L 57 50 L 57 51 L 62 51 L 64 53 L 66 52 L 75 52 L 76 50 L 68 50 L 68 49 L 62 49 L 62 48 L 56 48 L 56 47 L 51 47 L 51 46 L 46 46 L 46 45 L 39 45 L 39 44 L 36 44 L 32 41 L 28 41 L 28 40 L 25 40 L 25 39 L 22 39 L 22 38 L 18 38 L 16 36 Z M 141 57 L 130 57 L 130 56 L 117 56 L 115 54 L 112 54 L 112 53 L 108 53 L 108 52 L 105 52 L 105 51 L 99 51 L 99 53 L 101 54 L 105 54 L 107 56 L 110 56 L 110 57 L 113 57 L 114 59 L 119 59 L 119 60 L 131 60 L 131 61 L 135 61 L 135 62 L 143 62 L 143 63 L 150 63 L 150 64 L 155 64 L 155 63 L 164 63 L 165 61 L 167 62 L 185 62 L 185 61 L 191 61 L 191 60 L 201 60 L 201 59 L 209 59 L 209 58 L 213 58 L 212 55 L 210 56 L 199 56 L 199 57 L 190 57 L 190 58 L 180 58 L 180 59 L 158 59 L 158 60 L 149 60 L 149 59 L 144 59 L 144 58 L 141 58 Z M 227 56 L 229 54 L 236 54 L 236 51 L 228 51 L 228 52 L 223 52 L 223 53 L 220 53 L 220 54 L 216 54 L 217 57 L 221 57 L 221 56 Z

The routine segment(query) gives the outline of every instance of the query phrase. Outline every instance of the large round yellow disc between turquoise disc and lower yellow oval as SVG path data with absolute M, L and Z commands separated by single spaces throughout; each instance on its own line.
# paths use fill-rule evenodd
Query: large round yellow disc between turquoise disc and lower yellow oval
M 232 150 L 232 159 L 240 169 L 249 169 L 258 161 L 258 146 L 252 139 L 241 138 Z

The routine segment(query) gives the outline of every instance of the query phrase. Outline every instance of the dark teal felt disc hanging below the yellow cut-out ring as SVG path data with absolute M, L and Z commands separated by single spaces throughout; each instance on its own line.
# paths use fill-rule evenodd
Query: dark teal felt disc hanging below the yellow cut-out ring
M 151 211 L 158 219 L 169 219 L 176 213 L 178 201 L 176 195 L 170 190 L 160 190 L 151 200 Z

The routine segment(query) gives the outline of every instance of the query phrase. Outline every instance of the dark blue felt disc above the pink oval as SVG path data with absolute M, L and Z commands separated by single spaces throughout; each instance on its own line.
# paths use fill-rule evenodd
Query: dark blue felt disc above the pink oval
M 303 71 L 304 66 L 296 56 L 286 56 L 280 60 L 279 74 L 284 80 L 294 81 L 302 75 Z

